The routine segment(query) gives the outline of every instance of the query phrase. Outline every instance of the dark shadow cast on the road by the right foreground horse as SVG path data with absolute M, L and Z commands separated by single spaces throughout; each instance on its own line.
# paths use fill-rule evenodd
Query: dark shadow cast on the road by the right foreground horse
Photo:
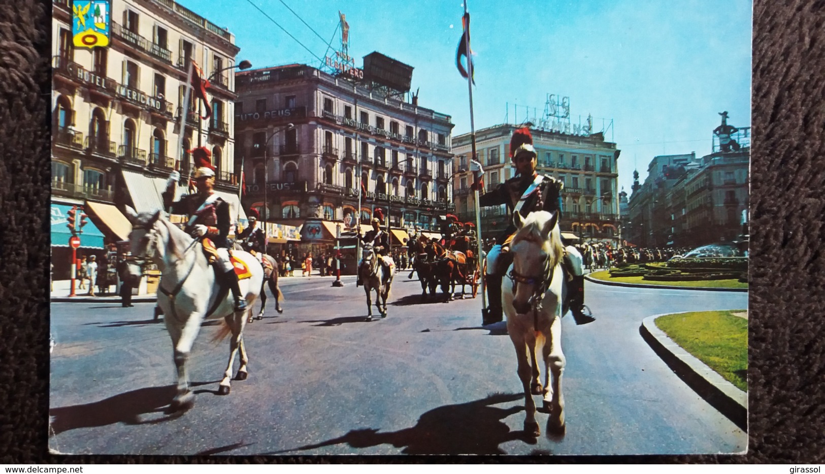
M 502 419 L 524 410 L 524 407 L 503 409 L 493 405 L 522 398 L 521 394 L 493 394 L 482 400 L 444 405 L 427 411 L 412 428 L 389 433 L 379 433 L 378 429 L 371 428 L 353 429 L 340 438 L 266 454 L 305 451 L 345 443 L 351 448 L 392 444 L 396 448 L 403 447 L 404 454 L 506 454 L 498 447 L 499 444 L 513 440 L 535 444 L 536 440 L 523 431 L 511 431 L 502 422 Z

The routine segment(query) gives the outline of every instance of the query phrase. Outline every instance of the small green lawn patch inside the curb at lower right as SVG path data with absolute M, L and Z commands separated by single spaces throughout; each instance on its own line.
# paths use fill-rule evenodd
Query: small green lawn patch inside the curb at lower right
M 695 311 L 656 318 L 656 326 L 695 358 L 747 391 L 747 320 L 738 311 Z

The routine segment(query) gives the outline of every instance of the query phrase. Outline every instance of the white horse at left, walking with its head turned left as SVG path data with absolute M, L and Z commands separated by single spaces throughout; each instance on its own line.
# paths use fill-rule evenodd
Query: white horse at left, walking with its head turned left
M 177 394 L 169 405 L 169 411 L 188 410 L 195 402 L 195 396 L 189 390 L 186 359 L 200 331 L 200 324 L 205 319 L 224 318 L 224 327 L 215 335 L 214 340 L 224 339 L 230 331 L 232 333 L 229 364 L 218 391 L 219 395 L 229 394 L 232 364 L 238 350 L 241 365 L 236 380 L 247 378 L 248 359 L 243 344 L 243 327 L 247 322 L 245 311 L 235 312 L 231 292 L 229 289 L 221 291 L 215 282 L 214 271 L 203 254 L 200 240 L 192 239 L 169 222 L 163 211 L 138 215 L 134 209 L 126 206 L 126 217 L 132 223 L 129 235 L 132 255 L 139 260 L 153 261 L 161 271 L 158 306 L 163 310 L 163 320 L 172 338 L 177 367 Z M 247 306 L 251 308 L 262 287 L 261 263 L 243 251 L 233 250 L 233 256 L 243 261 L 252 274 L 239 282 Z M 139 267 L 129 265 L 128 268 L 127 278 L 139 282 Z

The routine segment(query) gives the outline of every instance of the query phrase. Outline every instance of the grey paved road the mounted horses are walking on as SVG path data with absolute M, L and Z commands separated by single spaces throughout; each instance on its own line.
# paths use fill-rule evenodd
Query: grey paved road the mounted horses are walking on
M 747 307 L 747 293 L 587 283 L 598 320 L 563 319 L 567 434 L 524 420 L 506 334 L 479 327 L 480 297 L 421 302 L 399 273 L 389 317 L 365 322 L 351 277 L 282 281 L 247 326 L 249 378 L 216 395 L 229 344 L 205 323 L 191 356 L 196 405 L 171 418 L 172 348 L 151 304 L 54 303 L 50 448 L 141 454 L 735 453 L 747 434 L 697 396 L 639 335 L 645 316 Z M 417 303 L 417 304 L 413 304 Z M 237 367 L 237 364 L 236 364 Z M 540 414 L 540 424 L 546 415 Z M 546 431 L 542 426 L 542 431 Z

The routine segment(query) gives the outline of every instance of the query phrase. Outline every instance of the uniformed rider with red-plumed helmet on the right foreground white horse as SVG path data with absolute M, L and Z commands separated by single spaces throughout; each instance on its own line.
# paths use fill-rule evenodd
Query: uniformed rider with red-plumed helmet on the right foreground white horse
M 485 282 L 490 303 L 489 307 L 483 310 L 483 325 L 502 320 L 502 277 L 512 263 L 512 255 L 509 252 L 510 241 L 516 233 L 516 226 L 512 223 L 512 213 L 518 211 L 522 217 L 526 217 L 531 211 L 559 212 L 561 208 L 563 183 L 535 172 L 536 153 L 529 128 L 524 127 L 513 133 L 510 140 L 510 159 L 516 168 L 516 176 L 479 198 L 479 206 L 482 207 L 506 204 L 511 216 L 509 227 L 487 255 L 488 273 L 485 276 Z M 479 167 L 475 162 L 473 166 Z M 581 265 L 575 264 L 577 261 L 581 262 L 581 259 L 581 255 L 573 246 L 565 248 L 563 267 L 572 276 L 572 281 L 568 282 L 568 301 L 570 301 L 573 319 L 578 325 L 595 320 L 582 313 L 584 276 Z

